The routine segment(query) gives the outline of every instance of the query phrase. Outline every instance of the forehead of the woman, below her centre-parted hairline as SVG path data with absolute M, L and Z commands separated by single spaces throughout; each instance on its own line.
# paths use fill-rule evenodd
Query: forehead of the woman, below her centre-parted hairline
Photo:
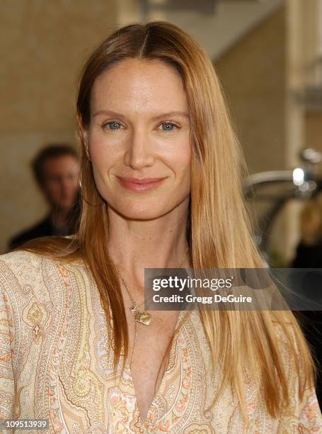
M 91 92 L 91 112 L 187 110 L 178 71 L 161 60 L 125 59 L 103 72 Z

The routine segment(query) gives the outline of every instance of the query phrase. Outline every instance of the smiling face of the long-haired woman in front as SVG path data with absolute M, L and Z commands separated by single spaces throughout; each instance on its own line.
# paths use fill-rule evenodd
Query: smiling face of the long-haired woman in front
M 118 213 L 147 220 L 188 203 L 188 102 L 171 66 L 131 58 L 104 72 L 84 135 L 98 191 Z

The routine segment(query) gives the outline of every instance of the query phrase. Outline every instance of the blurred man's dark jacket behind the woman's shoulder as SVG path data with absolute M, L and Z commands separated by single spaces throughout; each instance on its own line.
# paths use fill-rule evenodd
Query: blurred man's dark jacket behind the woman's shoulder
M 18 235 L 11 238 L 9 241 L 9 249 L 13 249 L 14 247 L 18 247 L 19 245 L 25 243 L 25 241 L 33 240 L 34 238 L 45 237 L 47 235 L 71 235 L 69 230 L 62 231 L 58 230 L 56 226 L 54 226 L 54 222 L 48 214 L 42 221 L 35 224 L 31 228 L 23 230 Z

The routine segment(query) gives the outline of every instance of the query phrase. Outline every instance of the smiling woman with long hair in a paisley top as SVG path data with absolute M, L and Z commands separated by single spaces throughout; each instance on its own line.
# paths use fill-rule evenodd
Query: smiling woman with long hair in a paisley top
M 77 118 L 78 233 L 1 257 L 2 418 L 47 418 L 50 433 L 321 432 L 292 313 L 142 312 L 144 268 L 263 267 L 205 50 L 170 23 L 120 28 L 86 62 Z

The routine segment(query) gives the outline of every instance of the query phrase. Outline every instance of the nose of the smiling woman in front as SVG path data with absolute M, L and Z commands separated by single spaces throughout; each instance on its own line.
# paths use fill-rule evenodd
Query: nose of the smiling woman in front
M 153 145 L 143 128 L 133 131 L 125 152 L 124 163 L 135 170 L 154 165 Z

